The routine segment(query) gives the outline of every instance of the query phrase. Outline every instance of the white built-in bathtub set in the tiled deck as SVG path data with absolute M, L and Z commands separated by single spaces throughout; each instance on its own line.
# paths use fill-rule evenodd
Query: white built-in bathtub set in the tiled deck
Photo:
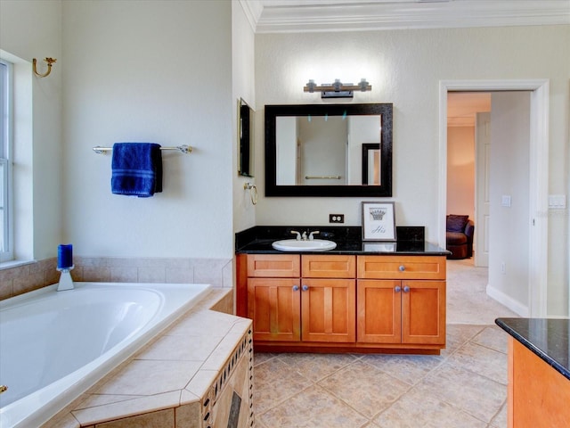
M 39 426 L 172 324 L 208 284 L 57 284 L 0 301 L 0 428 Z

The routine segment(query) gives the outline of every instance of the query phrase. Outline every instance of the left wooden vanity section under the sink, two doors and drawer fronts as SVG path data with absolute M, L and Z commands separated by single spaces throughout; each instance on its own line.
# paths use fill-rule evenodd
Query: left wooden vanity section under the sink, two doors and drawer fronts
M 354 342 L 354 273 L 354 256 L 248 255 L 254 341 Z

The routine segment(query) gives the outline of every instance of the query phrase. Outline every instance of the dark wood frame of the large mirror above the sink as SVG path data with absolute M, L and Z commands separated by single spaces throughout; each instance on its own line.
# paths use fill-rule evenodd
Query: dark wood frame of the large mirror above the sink
M 392 196 L 392 114 L 392 103 L 265 105 L 265 196 Z M 326 115 L 381 116 L 380 185 L 277 185 L 277 118 Z

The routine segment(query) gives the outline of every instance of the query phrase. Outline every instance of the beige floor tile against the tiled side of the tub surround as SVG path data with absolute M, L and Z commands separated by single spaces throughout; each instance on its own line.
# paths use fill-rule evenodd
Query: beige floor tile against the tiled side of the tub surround
M 256 415 L 277 406 L 312 384 L 279 358 L 272 358 L 254 369 L 253 402 Z

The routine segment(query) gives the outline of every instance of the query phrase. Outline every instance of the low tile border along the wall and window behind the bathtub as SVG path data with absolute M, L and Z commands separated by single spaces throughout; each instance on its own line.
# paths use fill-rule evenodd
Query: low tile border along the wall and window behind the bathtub
M 233 287 L 232 259 L 73 258 L 74 281 L 115 283 L 194 283 Z M 31 292 L 60 280 L 57 258 L 0 270 L 0 300 Z

